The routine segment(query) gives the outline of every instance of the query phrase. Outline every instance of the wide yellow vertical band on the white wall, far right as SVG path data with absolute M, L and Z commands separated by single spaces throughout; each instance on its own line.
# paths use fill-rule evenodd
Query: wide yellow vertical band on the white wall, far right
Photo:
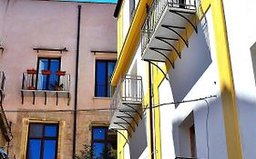
M 220 94 L 229 159 L 242 159 L 238 111 L 230 65 L 226 22 L 222 0 L 211 1 L 217 61 L 220 75 Z

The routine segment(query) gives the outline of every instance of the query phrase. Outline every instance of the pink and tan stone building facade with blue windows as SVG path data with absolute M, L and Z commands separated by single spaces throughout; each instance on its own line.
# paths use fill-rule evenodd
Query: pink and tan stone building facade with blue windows
M 107 145 L 116 149 L 116 134 L 108 131 L 114 10 L 103 3 L 0 2 L 10 158 L 70 159 L 84 144 L 97 156 Z

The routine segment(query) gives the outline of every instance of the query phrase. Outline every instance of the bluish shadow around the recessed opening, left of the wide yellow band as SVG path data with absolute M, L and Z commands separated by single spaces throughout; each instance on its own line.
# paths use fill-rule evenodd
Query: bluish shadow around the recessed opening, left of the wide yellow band
M 185 105 L 196 108 L 172 124 L 172 137 L 176 156 L 227 158 L 225 126 L 221 105 L 220 97 L 191 102 Z M 191 132 L 192 126 L 194 126 L 194 132 Z

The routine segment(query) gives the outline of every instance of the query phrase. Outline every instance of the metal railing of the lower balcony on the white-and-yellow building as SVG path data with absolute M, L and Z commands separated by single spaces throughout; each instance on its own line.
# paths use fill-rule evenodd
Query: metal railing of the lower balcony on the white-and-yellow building
M 139 104 L 142 103 L 142 98 L 143 89 L 141 76 L 126 75 L 119 81 L 115 94 L 113 94 L 112 101 L 110 103 L 110 119 L 122 102 Z

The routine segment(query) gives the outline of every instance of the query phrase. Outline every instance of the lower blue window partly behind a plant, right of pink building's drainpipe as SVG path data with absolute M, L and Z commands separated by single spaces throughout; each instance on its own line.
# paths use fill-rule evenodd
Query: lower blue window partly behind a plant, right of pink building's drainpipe
M 117 158 L 117 134 L 108 127 L 92 127 L 92 147 L 95 158 Z

